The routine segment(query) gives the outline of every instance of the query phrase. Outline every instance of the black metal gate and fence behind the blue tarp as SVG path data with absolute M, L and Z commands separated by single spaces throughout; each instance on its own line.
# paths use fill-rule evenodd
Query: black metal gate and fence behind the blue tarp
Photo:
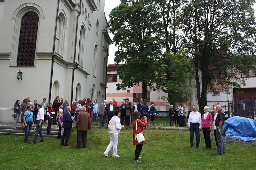
M 255 103 L 253 100 L 253 96 L 251 96 L 250 99 L 236 99 L 235 101 L 229 101 L 228 100 L 228 117 L 232 116 L 241 116 L 241 117 L 247 117 L 251 119 L 256 118 L 255 114 Z

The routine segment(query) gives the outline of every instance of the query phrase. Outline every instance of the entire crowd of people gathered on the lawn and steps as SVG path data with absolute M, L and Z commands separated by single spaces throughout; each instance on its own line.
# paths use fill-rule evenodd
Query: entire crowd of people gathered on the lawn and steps
M 61 144 L 65 147 L 70 147 L 68 144 L 68 139 L 70 136 L 70 131 L 72 128 L 72 123 L 76 121 L 77 130 L 77 145 L 76 148 L 80 149 L 86 147 L 87 144 L 87 132 L 91 130 L 91 123 L 96 122 L 96 117 L 100 117 L 100 125 L 105 127 L 105 121 L 108 122 L 108 133 L 110 136 L 110 143 L 103 153 L 104 156 L 108 157 L 108 152 L 113 147 L 113 157 L 120 157 L 117 155 L 117 145 L 118 145 L 118 134 L 122 128 L 125 126 L 130 126 L 132 124 L 133 128 L 133 145 L 136 145 L 135 150 L 135 162 L 140 162 L 139 156 L 142 150 L 143 144 L 146 144 L 145 134 L 143 133 L 143 127 L 148 126 L 148 116 L 150 115 L 152 121 L 152 127 L 155 126 L 155 115 L 157 112 L 154 106 L 154 101 L 150 101 L 150 107 L 147 104 L 146 99 L 140 99 L 140 103 L 131 103 L 129 98 L 123 100 L 120 105 L 120 109 L 117 107 L 117 102 L 115 98 L 107 103 L 104 100 L 98 106 L 97 101 L 92 103 L 90 98 L 84 97 L 83 100 L 73 101 L 71 106 L 69 106 L 68 99 L 63 99 L 57 96 L 53 104 L 47 103 L 46 99 L 43 99 L 41 104 L 37 103 L 35 99 L 31 102 L 30 97 L 25 97 L 22 103 L 17 100 L 14 104 L 14 123 L 13 129 L 17 129 L 17 121 L 21 115 L 21 122 L 23 129 L 25 131 L 24 142 L 28 143 L 28 135 L 30 133 L 31 127 L 36 126 L 35 138 L 33 142 L 29 144 L 36 144 L 38 135 L 40 135 L 40 142 L 44 142 L 44 136 L 42 132 L 42 124 L 47 125 L 47 135 L 51 135 L 51 125 L 58 124 L 59 132 L 58 139 L 61 139 Z M 188 129 L 190 130 L 190 147 L 194 146 L 194 133 L 196 133 L 196 147 L 200 144 L 199 132 L 202 131 L 204 134 L 205 148 L 207 150 L 211 149 L 211 139 L 210 132 L 212 131 L 212 122 L 214 124 L 214 136 L 216 140 L 216 145 L 218 152 L 216 155 L 221 155 L 225 153 L 224 140 L 222 138 L 223 125 L 224 125 L 224 113 L 221 110 L 219 103 L 216 103 L 214 107 L 214 121 L 211 113 L 208 112 L 209 107 L 204 107 L 204 114 L 197 111 L 197 106 L 193 106 L 193 111 L 190 112 L 188 117 L 188 109 L 186 105 L 183 106 L 179 104 L 173 109 L 171 105 L 169 109 L 170 125 L 175 126 L 176 122 L 178 126 L 186 126 L 186 118 L 188 117 Z M 148 114 L 149 113 L 149 114 Z M 58 117 L 57 117 L 58 115 Z M 121 122 L 119 117 L 121 117 Z M 57 118 L 57 119 L 56 119 Z M 137 134 L 142 133 L 144 140 L 138 142 Z

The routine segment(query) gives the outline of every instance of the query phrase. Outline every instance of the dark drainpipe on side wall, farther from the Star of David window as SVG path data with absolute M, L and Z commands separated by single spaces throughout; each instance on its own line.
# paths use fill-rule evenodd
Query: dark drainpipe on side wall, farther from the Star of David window
M 76 16 L 76 36 L 75 36 L 75 50 L 74 50 L 74 61 L 73 61 L 73 63 L 76 64 L 76 67 L 73 68 L 73 71 L 72 71 L 71 103 L 73 103 L 74 75 L 75 75 L 75 70 L 78 67 L 78 63 L 76 62 L 76 44 L 77 44 L 78 19 L 79 19 L 79 16 L 81 15 L 81 6 L 82 6 L 82 0 L 80 0 L 79 14 Z

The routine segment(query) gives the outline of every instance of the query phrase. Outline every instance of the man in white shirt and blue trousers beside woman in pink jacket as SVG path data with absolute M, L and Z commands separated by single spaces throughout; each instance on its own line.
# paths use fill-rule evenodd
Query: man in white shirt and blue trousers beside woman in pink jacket
M 202 129 L 202 116 L 197 111 L 197 106 L 193 105 L 193 111 L 189 113 L 188 129 L 190 130 L 190 147 L 194 146 L 194 133 L 196 132 L 196 148 L 200 143 L 200 131 Z

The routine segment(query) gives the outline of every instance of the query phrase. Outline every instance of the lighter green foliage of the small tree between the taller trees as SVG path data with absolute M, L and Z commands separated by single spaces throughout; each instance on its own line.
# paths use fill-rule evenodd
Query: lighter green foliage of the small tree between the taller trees
M 170 73 L 171 80 L 168 80 L 165 87 L 168 94 L 168 101 L 172 104 L 177 102 L 188 101 L 192 94 L 190 67 L 191 60 L 186 55 L 185 50 L 177 51 L 176 55 L 173 53 L 165 53 L 164 60 L 168 61 L 170 65 L 163 63 L 162 69 L 167 68 Z

